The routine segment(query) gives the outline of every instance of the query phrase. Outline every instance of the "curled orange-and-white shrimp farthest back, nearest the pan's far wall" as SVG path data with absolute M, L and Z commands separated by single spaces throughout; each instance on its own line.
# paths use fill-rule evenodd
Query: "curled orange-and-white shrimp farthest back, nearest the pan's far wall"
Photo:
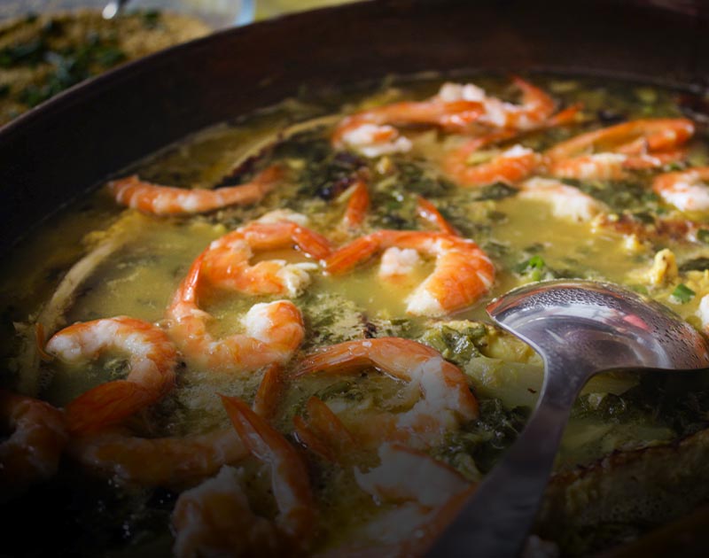
M 435 98 L 448 103 L 461 100 L 480 103 L 483 112 L 477 121 L 490 127 L 516 130 L 539 128 L 552 117 L 556 109 L 554 99 L 518 76 L 512 76 L 512 82 L 522 92 L 521 105 L 489 97 L 483 89 L 471 83 L 444 83 Z M 564 119 L 567 116 L 565 114 Z

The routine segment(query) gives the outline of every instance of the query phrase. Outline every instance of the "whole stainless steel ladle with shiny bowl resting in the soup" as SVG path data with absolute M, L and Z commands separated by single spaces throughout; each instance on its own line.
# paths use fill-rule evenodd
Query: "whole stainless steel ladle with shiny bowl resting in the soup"
M 665 306 L 616 285 L 533 283 L 487 306 L 544 360 L 544 382 L 518 440 L 429 556 L 518 556 L 534 523 L 573 402 L 591 376 L 618 369 L 709 368 L 709 346 Z

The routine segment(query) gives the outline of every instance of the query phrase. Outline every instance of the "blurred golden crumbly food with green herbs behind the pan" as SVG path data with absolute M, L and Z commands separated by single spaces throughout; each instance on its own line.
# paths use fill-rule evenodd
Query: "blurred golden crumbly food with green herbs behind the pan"
M 208 35 L 201 19 L 143 10 L 28 13 L 0 25 L 0 124 L 77 83 L 157 50 Z

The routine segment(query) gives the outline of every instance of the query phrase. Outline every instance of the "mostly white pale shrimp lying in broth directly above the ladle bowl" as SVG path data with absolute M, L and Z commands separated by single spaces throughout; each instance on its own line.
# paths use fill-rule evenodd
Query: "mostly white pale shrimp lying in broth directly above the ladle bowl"
M 568 221 L 592 221 L 596 215 L 608 210 L 604 204 L 578 188 L 546 178 L 531 178 L 523 182 L 518 197 L 549 204 L 555 217 Z

